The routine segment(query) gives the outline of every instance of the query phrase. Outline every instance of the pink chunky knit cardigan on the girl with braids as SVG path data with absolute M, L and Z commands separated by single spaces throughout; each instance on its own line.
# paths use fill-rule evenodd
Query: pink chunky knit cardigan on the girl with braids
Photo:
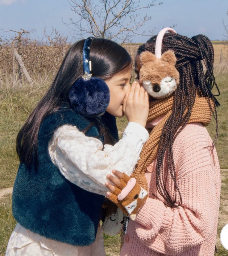
M 164 204 L 152 163 L 145 174 L 149 197 L 135 221 L 129 222 L 121 256 L 214 255 L 221 180 L 217 153 L 206 128 L 200 123 L 187 124 L 174 142 L 173 156 L 182 205 L 170 208 Z M 166 184 L 172 191 L 171 178 Z

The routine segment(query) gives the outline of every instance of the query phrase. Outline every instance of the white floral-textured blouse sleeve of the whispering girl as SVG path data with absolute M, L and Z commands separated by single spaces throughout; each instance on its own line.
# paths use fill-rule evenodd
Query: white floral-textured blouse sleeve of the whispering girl
M 82 189 L 106 195 L 106 176 L 113 169 L 130 176 L 148 138 L 143 126 L 129 122 L 122 139 L 114 146 L 105 145 L 102 150 L 100 140 L 66 124 L 56 129 L 48 150 L 52 162 L 66 179 Z

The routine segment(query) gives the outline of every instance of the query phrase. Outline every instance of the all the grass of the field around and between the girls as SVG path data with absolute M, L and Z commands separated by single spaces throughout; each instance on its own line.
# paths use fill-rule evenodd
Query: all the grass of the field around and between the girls
M 221 66 L 216 71 L 216 80 L 220 88 L 221 96 L 217 97 L 221 106 L 218 107 L 218 131 L 219 139 L 216 143 L 216 149 L 220 161 L 220 166 L 223 169 L 228 169 L 228 119 L 227 119 L 227 106 L 228 106 L 228 72 L 227 66 Z M 49 81 L 43 81 L 41 87 L 34 83 L 29 86 L 26 83 L 21 87 L 12 88 L 10 83 L 0 88 L 0 189 L 13 186 L 19 160 L 15 151 L 15 140 L 19 129 L 31 113 L 39 99 L 47 89 Z M 126 117 L 117 119 L 118 131 L 124 131 L 127 124 Z M 215 122 L 212 120 L 208 126 L 208 131 L 211 137 L 215 136 Z M 227 215 L 227 177 L 222 183 L 221 192 L 221 216 Z M 0 255 L 4 255 L 6 245 L 12 230 L 15 227 L 15 219 L 11 212 L 11 197 L 8 196 L 0 200 Z M 221 217 L 221 218 L 222 218 Z M 223 219 L 224 221 L 224 219 Z M 227 221 L 228 222 L 228 221 Z M 227 255 L 227 251 L 222 247 L 219 241 L 219 233 L 225 223 L 219 220 L 218 225 L 218 254 Z M 120 236 L 109 237 L 104 235 L 106 253 L 109 256 L 119 254 Z

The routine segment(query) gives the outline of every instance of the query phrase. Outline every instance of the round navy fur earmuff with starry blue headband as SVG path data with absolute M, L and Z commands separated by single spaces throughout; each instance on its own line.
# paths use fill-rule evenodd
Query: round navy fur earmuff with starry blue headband
M 108 85 L 90 74 L 89 48 L 93 38 L 88 37 L 83 47 L 84 75 L 73 83 L 69 91 L 71 107 L 85 117 L 101 115 L 110 101 Z

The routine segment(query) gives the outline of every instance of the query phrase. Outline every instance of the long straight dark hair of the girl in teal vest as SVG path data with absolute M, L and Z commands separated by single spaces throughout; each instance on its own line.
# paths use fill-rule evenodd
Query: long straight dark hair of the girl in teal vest
M 30 165 L 34 155 L 37 159 L 38 132 L 44 118 L 58 111 L 63 105 L 70 108 L 68 98 L 70 87 L 83 76 L 82 51 L 84 42 L 85 40 L 78 41 L 68 50 L 48 91 L 19 131 L 16 150 L 21 162 Z M 110 79 L 131 65 L 131 57 L 122 46 L 101 38 L 93 39 L 90 45 L 89 59 L 93 63 L 92 75 L 103 80 Z M 96 118 L 93 121 L 97 124 Z M 102 124 L 98 123 L 100 130 L 105 133 Z M 104 136 L 105 142 L 107 142 L 107 137 L 109 136 Z

